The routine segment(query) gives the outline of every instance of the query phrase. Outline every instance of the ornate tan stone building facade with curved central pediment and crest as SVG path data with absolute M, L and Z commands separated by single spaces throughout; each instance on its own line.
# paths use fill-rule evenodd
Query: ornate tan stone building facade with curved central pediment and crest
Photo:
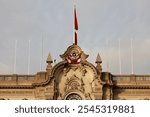
M 150 99 L 150 75 L 113 75 L 102 72 L 97 55 L 96 66 L 78 45 L 71 45 L 62 61 L 52 66 L 47 58 L 45 72 L 35 75 L 0 75 L 0 99 L 3 100 L 132 100 Z

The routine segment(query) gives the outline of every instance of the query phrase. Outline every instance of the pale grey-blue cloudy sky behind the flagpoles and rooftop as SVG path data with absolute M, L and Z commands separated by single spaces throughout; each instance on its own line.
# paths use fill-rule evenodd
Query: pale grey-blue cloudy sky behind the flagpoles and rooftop
M 119 39 L 122 74 L 131 74 L 131 39 L 135 74 L 150 74 L 150 0 L 77 0 L 79 46 L 95 64 L 97 53 L 103 71 L 119 74 Z M 73 0 L 0 0 L 0 74 L 13 74 L 15 40 L 16 72 L 27 74 L 31 40 L 30 73 L 43 70 L 51 53 L 60 54 L 72 44 Z

